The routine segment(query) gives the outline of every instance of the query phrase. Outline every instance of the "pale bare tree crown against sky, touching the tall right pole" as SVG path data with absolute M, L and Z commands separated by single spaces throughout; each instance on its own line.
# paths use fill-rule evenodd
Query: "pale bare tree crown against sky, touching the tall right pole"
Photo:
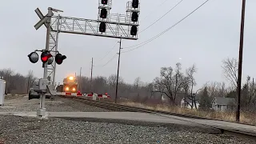
M 238 88 L 238 60 L 236 58 L 226 58 L 222 61 L 222 69 L 226 78 L 235 89 Z

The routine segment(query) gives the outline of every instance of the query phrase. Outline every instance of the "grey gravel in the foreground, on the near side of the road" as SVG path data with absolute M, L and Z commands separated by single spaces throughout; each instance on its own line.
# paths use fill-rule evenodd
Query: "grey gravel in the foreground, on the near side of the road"
M 132 126 L 106 122 L 72 121 L 61 118 L 0 116 L 0 140 L 20 143 L 256 143 L 226 135 L 202 134 L 188 127 Z M 0 141 L 1 143 L 1 141 Z

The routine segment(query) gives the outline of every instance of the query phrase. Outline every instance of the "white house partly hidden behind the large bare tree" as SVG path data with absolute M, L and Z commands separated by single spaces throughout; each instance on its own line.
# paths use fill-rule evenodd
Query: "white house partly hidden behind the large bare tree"
M 196 103 L 196 106 L 192 105 L 192 100 L 191 100 L 191 96 L 186 96 L 186 97 L 183 97 L 182 98 L 182 101 L 181 101 L 181 107 L 182 108 L 188 108 L 188 109 L 191 109 L 192 106 L 193 106 L 193 109 L 198 109 L 199 108 L 199 97 L 198 96 L 195 96 L 195 103 Z M 194 102 L 194 101 L 193 101 Z

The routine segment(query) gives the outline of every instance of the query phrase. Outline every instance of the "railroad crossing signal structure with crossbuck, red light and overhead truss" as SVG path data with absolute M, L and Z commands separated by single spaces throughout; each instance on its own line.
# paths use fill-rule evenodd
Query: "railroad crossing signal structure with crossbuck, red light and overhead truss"
M 51 7 L 48 8 L 48 13 L 43 15 L 39 9 L 35 12 L 38 14 L 40 21 L 34 25 L 34 28 L 38 30 L 42 25 L 46 26 L 46 49 L 41 50 L 41 61 L 43 62 L 44 74 L 43 80 L 49 78 L 55 79 L 56 64 L 61 65 L 63 60 L 66 59 L 65 55 L 58 53 L 58 34 L 84 34 L 90 36 L 99 36 L 107 38 L 120 38 L 137 40 L 138 35 L 138 13 L 139 13 L 139 2 L 130 0 L 126 5 L 125 14 L 110 14 L 112 0 L 98 0 L 98 19 L 85 19 L 85 18 L 70 18 L 63 16 L 54 16 L 53 12 L 63 12 L 62 10 L 56 10 Z M 84 25 L 86 23 L 86 25 Z M 125 27 L 126 26 L 126 27 Z M 95 28 L 97 27 L 97 28 Z M 107 28 L 107 30 L 106 30 Z M 120 42 L 121 46 L 121 42 Z M 119 54 L 120 55 L 120 54 Z M 38 54 L 31 53 L 28 55 L 30 62 L 38 62 Z M 55 57 L 55 61 L 54 61 Z M 54 65 L 52 65 L 54 62 Z M 49 66 L 49 68 L 48 68 Z M 49 75 L 48 75 L 49 74 Z M 45 98 L 46 94 L 42 93 L 40 99 L 40 109 L 37 111 L 38 116 L 44 116 L 45 109 Z

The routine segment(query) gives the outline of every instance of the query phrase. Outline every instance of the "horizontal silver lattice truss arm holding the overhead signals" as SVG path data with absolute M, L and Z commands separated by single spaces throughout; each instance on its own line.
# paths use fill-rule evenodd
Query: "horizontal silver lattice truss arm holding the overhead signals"
M 90 36 L 99 36 L 106 38 L 122 38 L 129 40 L 137 40 L 137 36 L 130 35 L 130 26 L 139 26 L 134 23 L 126 22 L 113 22 L 113 21 L 103 21 L 103 20 L 92 20 L 85 18 L 70 18 L 70 17 L 58 17 L 53 16 L 54 32 L 61 32 L 67 34 L 84 34 Z M 57 21 L 59 19 L 59 30 L 57 29 Z M 98 30 L 98 26 L 101 22 L 105 22 L 106 30 L 108 33 L 103 33 Z M 122 37 L 121 37 L 122 35 Z

